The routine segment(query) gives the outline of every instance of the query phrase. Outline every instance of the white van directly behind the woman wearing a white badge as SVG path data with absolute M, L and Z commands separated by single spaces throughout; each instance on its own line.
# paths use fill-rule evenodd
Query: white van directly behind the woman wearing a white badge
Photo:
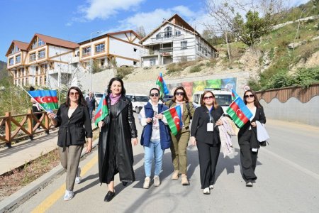
M 230 92 L 228 89 L 205 89 L 210 90 L 215 95 L 215 98 L 217 100 L 217 103 L 220 107 L 223 108 L 225 114 L 226 109 L 228 109 L 229 104 L 232 103 L 232 92 Z M 193 94 L 193 105 L 195 108 L 201 107 L 201 96 L 205 91 L 198 91 Z

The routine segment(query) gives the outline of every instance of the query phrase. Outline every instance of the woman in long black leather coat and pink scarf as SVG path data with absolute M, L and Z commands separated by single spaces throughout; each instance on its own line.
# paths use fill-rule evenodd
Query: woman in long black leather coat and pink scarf
M 108 185 L 104 197 L 109 202 L 115 196 L 114 176 L 119 173 L 123 185 L 135 181 L 132 144 L 138 144 L 138 131 L 133 116 L 132 103 L 125 97 L 123 81 L 113 77 L 108 84 L 108 116 L 100 121 L 99 179 Z M 132 144 L 131 144 L 132 143 Z

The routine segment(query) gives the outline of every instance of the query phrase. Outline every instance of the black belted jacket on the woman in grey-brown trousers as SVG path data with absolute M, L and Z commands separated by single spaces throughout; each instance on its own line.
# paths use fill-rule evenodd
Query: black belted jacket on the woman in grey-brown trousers
M 57 138 L 57 146 L 80 145 L 85 143 L 86 138 L 92 138 L 92 126 L 89 110 L 79 105 L 69 118 L 69 107 L 61 104 L 57 111 L 57 126 L 60 126 Z

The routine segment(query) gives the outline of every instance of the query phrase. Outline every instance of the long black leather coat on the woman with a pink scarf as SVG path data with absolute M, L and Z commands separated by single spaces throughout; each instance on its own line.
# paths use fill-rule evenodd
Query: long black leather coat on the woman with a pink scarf
M 101 128 L 99 137 L 99 179 L 100 182 L 106 183 L 106 146 L 109 140 L 108 129 L 111 125 L 111 100 L 107 99 L 108 103 L 108 116 L 104 119 L 105 125 Z M 117 134 L 116 134 L 116 168 L 120 174 L 121 181 L 135 181 L 135 174 L 133 170 L 133 149 L 131 138 L 138 137 L 138 131 L 136 130 L 135 120 L 133 116 L 132 103 L 126 97 L 121 97 L 119 101 L 118 111 L 116 113 L 117 119 Z M 115 119 L 115 118 L 113 118 Z

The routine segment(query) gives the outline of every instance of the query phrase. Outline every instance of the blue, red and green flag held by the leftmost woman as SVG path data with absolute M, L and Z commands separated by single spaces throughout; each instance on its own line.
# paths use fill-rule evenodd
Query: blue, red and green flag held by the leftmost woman
M 40 104 L 40 107 L 45 111 L 58 109 L 56 90 L 33 90 L 29 91 L 28 93 Z

